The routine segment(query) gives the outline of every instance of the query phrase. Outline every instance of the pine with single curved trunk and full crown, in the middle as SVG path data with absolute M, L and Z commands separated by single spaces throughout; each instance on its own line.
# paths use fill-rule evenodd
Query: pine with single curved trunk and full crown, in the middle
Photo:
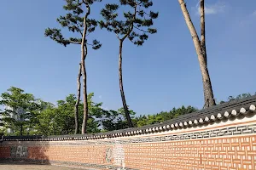
M 123 43 L 128 38 L 137 46 L 142 46 L 143 42 L 148 39 L 149 34 L 156 33 L 153 26 L 153 20 L 158 17 L 158 13 L 148 11 L 153 3 L 150 0 L 119 0 L 119 3 L 108 3 L 105 8 L 102 8 L 102 17 L 100 21 L 101 28 L 105 28 L 116 34 L 119 39 L 119 88 L 125 116 L 130 127 L 133 127 L 131 122 L 130 111 L 128 110 L 125 101 L 125 92 L 123 87 L 122 75 L 122 50 Z M 118 9 L 121 6 L 130 8 L 128 12 L 124 12 L 123 16 L 119 17 Z

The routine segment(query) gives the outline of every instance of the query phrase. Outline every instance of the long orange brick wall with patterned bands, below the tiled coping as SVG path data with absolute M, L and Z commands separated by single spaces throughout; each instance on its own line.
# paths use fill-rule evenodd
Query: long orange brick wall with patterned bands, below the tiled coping
M 88 169 L 256 169 L 256 116 L 128 137 L 3 141 L 0 160 Z

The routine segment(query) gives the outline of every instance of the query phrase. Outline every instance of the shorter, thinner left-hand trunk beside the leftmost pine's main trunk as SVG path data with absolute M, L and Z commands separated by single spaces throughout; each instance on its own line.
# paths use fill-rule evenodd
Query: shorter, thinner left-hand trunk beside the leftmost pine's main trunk
M 78 75 L 78 79 L 77 79 L 77 82 L 78 82 L 78 97 L 77 97 L 77 101 L 76 101 L 76 104 L 75 104 L 75 108 L 74 108 L 74 117 L 75 117 L 75 134 L 78 133 L 79 131 L 79 103 L 80 103 L 80 95 L 81 95 L 81 82 L 80 82 L 80 79 L 81 79 L 81 63 L 79 63 L 79 75 Z

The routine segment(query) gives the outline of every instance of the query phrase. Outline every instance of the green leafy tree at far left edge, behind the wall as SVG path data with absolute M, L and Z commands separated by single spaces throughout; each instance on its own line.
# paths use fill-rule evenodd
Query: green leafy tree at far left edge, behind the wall
M 15 134 L 29 133 L 37 123 L 40 111 L 38 100 L 32 94 L 25 94 L 20 88 L 11 87 L 1 95 L 0 105 L 4 105 L 3 127 L 11 128 Z

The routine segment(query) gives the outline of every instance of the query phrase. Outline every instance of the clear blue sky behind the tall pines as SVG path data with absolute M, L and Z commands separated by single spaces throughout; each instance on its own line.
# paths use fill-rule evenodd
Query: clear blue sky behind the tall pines
M 107 2 L 107 1 L 105 1 Z M 111 2 L 110 0 L 108 2 Z M 199 29 L 198 0 L 187 7 Z M 64 48 L 47 37 L 64 14 L 62 0 L 3 1 L 0 6 L 0 93 L 10 86 L 49 102 L 76 94 L 79 46 Z M 93 8 L 96 17 L 102 5 Z M 123 78 L 127 104 L 137 114 L 169 111 L 172 107 L 204 105 L 201 72 L 195 48 L 175 0 L 154 0 L 160 12 L 158 33 L 143 47 L 126 41 Z M 206 4 L 208 69 L 215 98 L 256 91 L 256 1 L 212 0 Z M 65 31 L 64 33 L 67 33 Z M 86 59 L 88 91 L 107 109 L 122 106 L 118 78 L 118 41 L 112 33 L 96 31 L 102 48 Z

